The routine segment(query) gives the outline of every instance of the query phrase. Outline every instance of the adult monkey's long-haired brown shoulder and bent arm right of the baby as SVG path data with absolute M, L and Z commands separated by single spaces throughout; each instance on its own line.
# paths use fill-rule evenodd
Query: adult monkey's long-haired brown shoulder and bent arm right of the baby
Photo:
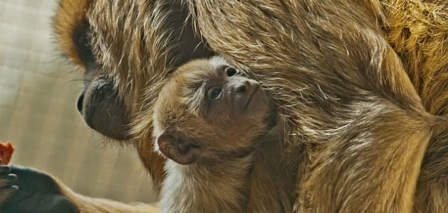
M 295 2 L 192 1 L 190 10 L 213 50 L 271 89 L 288 150 L 305 146 L 297 212 L 410 212 L 442 123 L 425 113 L 370 7 Z

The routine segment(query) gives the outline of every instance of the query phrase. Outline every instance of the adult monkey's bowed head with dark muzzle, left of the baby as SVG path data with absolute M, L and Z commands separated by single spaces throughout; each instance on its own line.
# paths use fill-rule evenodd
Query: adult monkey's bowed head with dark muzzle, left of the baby
M 152 141 L 138 139 L 152 131 L 138 120 L 151 113 L 165 75 L 211 53 L 186 20 L 180 2 L 154 0 L 61 0 L 54 19 L 58 45 L 84 73 L 77 109 L 87 125 L 136 142 L 156 181 L 162 159 L 151 153 Z

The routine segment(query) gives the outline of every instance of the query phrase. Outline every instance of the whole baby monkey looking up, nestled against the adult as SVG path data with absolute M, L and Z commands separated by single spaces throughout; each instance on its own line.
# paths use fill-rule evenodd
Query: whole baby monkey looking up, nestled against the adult
M 159 94 L 155 142 L 170 158 L 162 212 L 292 211 L 294 175 L 281 158 L 271 103 L 258 82 L 229 69 L 218 57 L 194 60 Z

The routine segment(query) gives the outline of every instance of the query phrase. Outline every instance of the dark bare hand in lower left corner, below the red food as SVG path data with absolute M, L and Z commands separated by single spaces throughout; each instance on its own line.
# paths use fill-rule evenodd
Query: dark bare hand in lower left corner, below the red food
M 1 165 L 0 186 L 0 212 L 79 212 L 57 182 L 38 170 Z

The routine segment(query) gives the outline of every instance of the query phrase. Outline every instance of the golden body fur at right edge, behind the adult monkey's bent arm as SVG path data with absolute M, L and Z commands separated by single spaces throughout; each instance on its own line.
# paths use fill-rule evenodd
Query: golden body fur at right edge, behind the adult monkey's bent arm
M 431 114 L 448 114 L 448 2 L 384 4 L 386 39 L 403 60 Z M 415 212 L 448 212 L 448 131 L 430 142 L 415 197 Z

